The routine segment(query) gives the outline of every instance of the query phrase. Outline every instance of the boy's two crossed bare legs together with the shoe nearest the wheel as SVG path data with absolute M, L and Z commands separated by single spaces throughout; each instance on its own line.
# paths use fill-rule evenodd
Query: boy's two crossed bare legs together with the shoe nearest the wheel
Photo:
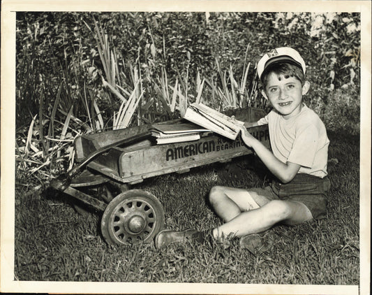
M 237 237 L 265 231 L 277 222 L 298 224 L 311 220 L 310 210 L 295 201 L 270 201 L 265 196 L 246 189 L 230 187 L 214 187 L 209 194 L 214 210 L 226 223 L 213 229 L 217 240 L 234 233 Z M 243 211 L 243 212 L 242 212 Z M 174 242 L 200 240 L 202 232 L 195 229 L 186 231 L 164 230 L 155 239 L 156 248 L 161 249 Z M 249 248 L 248 248 L 249 250 Z

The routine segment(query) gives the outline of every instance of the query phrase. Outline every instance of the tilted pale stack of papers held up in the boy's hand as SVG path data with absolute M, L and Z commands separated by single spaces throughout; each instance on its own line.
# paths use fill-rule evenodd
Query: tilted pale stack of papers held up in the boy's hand
M 184 119 L 198 124 L 222 136 L 235 140 L 244 122 L 209 108 L 202 103 L 192 103 L 186 110 Z

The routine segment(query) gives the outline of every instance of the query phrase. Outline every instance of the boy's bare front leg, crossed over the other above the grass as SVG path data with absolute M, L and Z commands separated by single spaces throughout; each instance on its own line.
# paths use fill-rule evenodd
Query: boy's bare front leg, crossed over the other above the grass
M 214 238 L 228 236 L 230 233 L 242 237 L 266 231 L 278 222 L 299 224 L 312 218 L 313 215 L 303 203 L 273 200 L 258 209 L 240 213 L 229 222 L 214 229 L 213 234 Z

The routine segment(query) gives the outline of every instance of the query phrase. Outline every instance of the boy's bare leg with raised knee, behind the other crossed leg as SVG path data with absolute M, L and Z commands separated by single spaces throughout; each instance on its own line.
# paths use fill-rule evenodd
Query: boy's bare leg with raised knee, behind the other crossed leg
M 234 187 L 216 186 L 209 192 L 209 202 L 224 222 L 229 222 L 241 212 L 260 208 L 269 201 L 265 196 L 259 196 L 255 192 Z

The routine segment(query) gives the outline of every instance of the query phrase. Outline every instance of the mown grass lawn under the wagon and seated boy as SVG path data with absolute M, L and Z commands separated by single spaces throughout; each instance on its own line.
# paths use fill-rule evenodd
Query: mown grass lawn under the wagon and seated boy
M 299 226 L 275 226 L 275 241 L 254 257 L 232 240 L 220 245 L 109 247 L 100 216 L 78 215 L 70 199 L 54 191 L 27 195 L 15 187 L 15 279 L 93 282 L 220 282 L 248 284 L 359 285 L 359 136 L 329 133 L 327 218 Z M 337 161 L 336 161 L 337 159 Z M 190 173 L 151 178 L 137 189 L 158 196 L 166 227 L 209 229 L 221 223 L 208 206 L 213 185 L 263 185 L 266 172 L 248 161 L 213 164 Z

